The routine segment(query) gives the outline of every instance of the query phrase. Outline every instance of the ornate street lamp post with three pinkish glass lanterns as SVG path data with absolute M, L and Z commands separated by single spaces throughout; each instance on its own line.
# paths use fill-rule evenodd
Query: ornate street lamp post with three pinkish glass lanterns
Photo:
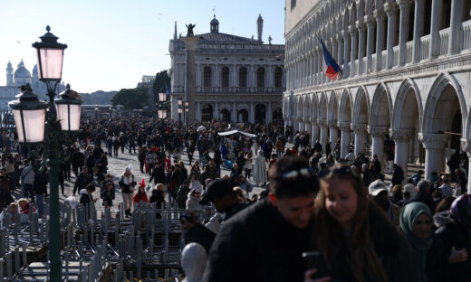
M 49 225 L 49 254 L 50 281 L 62 280 L 62 262 L 60 246 L 59 222 L 59 165 L 61 161 L 63 131 L 76 131 L 80 127 L 82 100 L 77 92 L 67 89 L 62 92 L 60 99 L 55 99 L 57 85 L 62 80 L 63 50 L 67 45 L 57 42 L 58 37 L 50 33 L 41 36 L 41 42 L 35 42 L 37 50 L 39 79 L 47 86 L 49 103 L 41 102 L 31 90 L 29 84 L 22 87 L 22 93 L 17 100 L 9 103 L 14 110 L 14 122 L 18 139 L 24 144 L 43 143 L 43 160 L 48 158 L 50 181 L 50 225 Z M 46 108 L 49 108 L 46 120 Z M 45 127 L 44 127 L 45 124 Z M 45 134 L 44 134 L 45 133 Z

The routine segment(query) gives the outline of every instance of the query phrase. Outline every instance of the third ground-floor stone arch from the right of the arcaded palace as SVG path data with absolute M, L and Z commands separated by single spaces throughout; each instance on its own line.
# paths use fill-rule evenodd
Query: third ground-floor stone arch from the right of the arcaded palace
M 388 86 L 384 82 L 376 87 L 370 108 L 370 127 L 390 127 L 392 99 Z

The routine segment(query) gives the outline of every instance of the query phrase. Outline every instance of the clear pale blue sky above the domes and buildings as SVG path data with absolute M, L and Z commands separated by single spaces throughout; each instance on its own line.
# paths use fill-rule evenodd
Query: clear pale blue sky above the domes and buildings
M 142 75 L 168 70 L 168 40 L 208 33 L 213 6 L 219 32 L 256 38 L 258 14 L 264 18 L 264 42 L 284 43 L 284 0 L 0 0 L 0 85 L 6 63 L 24 60 L 33 71 L 35 50 L 45 26 L 66 43 L 62 80 L 79 92 L 134 88 Z

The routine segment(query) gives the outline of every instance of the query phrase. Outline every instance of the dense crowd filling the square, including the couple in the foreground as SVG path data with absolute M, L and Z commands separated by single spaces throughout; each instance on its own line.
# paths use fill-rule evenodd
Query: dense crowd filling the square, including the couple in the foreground
M 256 137 L 219 135 L 235 128 Z M 337 145 L 311 145 L 308 133 L 284 132 L 276 124 L 214 120 L 184 126 L 132 114 L 83 120 L 73 139 L 63 146 L 62 194 L 74 174 L 72 196 L 79 193 L 83 204 L 97 202 L 98 187 L 106 206 L 121 193 L 126 217 L 141 202 L 187 210 L 187 240 L 208 254 L 203 281 L 471 277 L 468 164 L 459 152 L 447 163 L 451 174 L 424 179 L 418 171 L 408 177 L 394 164 L 387 182 L 382 156 L 370 159 L 351 150 L 340 158 Z M 25 201 L 38 202 L 42 214 L 47 174 L 36 164 L 42 150 L 15 148 L 14 155 L 9 146 L 2 155 L 0 208 L 14 206 L 12 192 L 22 187 L 21 211 L 29 210 Z M 393 146 L 385 151 L 388 159 L 394 154 Z M 134 155 L 139 168 L 108 174 L 109 158 L 120 154 Z M 138 169 L 149 178 L 137 179 L 132 172 Z M 264 190 L 255 194 L 254 187 Z M 198 221 L 192 211 L 208 206 L 216 214 Z

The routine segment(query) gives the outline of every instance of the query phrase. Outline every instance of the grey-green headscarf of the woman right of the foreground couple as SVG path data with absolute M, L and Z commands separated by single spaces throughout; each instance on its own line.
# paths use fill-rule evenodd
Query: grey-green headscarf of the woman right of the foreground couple
M 428 233 L 428 237 L 425 239 L 419 239 L 412 230 L 414 222 L 417 220 L 418 216 L 422 213 L 428 215 L 430 221 L 432 220 L 432 212 L 428 206 L 423 202 L 410 202 L 404 206 L 400 212 L 400 229 L 406 234 L 406 237 L 409 240 L 410 245 L 414 249 L 414 258 L 416 261 L 420 262 L 420 268 L 416 268 L 416 281 L 427 281 L 427 274 L 425 271 L 427 253 L 428 250 L 432 247 L 432 230 Z

